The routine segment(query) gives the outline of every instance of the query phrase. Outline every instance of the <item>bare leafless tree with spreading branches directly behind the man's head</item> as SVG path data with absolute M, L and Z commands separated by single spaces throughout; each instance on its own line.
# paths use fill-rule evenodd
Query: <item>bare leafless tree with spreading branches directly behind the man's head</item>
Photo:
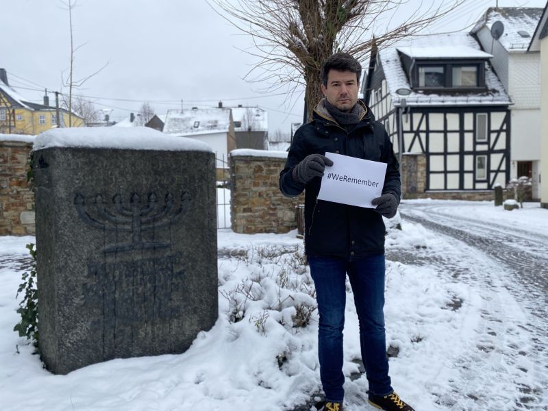
M 248 52 L 259 58 L 245 75 L 259 71 L 253 81 L 270 80 L 273 88 L 292 84 L 291 92 L 305 86 L 308 118 L 321 99 L 323 61 L 336 51 L 364 61 L 375 47 L 387 47 L 404 36 L 416 34 L 436 18 L 466 0 L 423 2 L 406 21 L 391 28 L 390 22 L 408 0 L 206 0 L 229 23 L 253 40 Z M 218 6 L 215 8 L 214 6 Z M 219 12 L 219 9 L 221 12 Z M 380 29 L 380 27 L 384 27 Z

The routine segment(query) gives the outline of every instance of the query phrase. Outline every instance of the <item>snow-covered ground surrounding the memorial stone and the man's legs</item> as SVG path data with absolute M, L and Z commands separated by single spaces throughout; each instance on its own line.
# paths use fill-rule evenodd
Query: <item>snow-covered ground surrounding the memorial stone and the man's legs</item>
M 543 240 L 548 210 L 525 206 L 503 212 L 489 202 L 402 203 L 402 229 L 387 237 L 386 332 L 393 386 L 416 410 L 547 409 L 546 328 L 530 309 L 545 306 L 546 293 L 516 297 L 514 272 L 492 255 L 406 219 L 445 213 L 460 229 L 496 225 L 508 227 L 508 237 L 519 229 Z M 181 355 L 112 360 L 69 375 L 42 369 L 33 347 L 12 331 L 25 244 L 34 238 L 0 237 L 0 409 L 294 410 L 314 403 L 321 398 L 317 311 L 295 234 L 219 230 L 212 329 Z M 346 410 L 372 411 L 348 292 Z

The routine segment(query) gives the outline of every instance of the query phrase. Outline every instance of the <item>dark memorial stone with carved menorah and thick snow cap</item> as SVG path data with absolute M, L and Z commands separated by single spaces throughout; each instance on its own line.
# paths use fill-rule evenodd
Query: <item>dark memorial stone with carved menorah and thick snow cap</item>
M 35 144 L 39 348 L 65 374 L 182 353 L 218 316 L 215 160 L 144 127 Z

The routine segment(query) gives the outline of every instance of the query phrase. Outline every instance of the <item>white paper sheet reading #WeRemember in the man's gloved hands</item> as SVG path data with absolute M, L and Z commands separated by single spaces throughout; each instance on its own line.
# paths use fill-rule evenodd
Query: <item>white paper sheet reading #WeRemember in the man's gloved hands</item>
M 371 200 L 382 195 L 386 163 L 325 153 L 333 166 L 325 167 L 319 200 L 364 208 L 375 208 Z

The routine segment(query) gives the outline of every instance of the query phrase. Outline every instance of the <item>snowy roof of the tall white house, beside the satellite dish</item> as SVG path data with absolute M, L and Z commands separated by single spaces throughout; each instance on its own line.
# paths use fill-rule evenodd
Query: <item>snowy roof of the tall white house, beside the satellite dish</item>
M 542 14 L 542 8 L 490 7 L 476 23 L 471 34 L 476 34 L 484 26 L 491 29 L 496 21 L 500 21 L 504 32 L 498 41 L 504 49 L 509 52 L 527 51 Z

